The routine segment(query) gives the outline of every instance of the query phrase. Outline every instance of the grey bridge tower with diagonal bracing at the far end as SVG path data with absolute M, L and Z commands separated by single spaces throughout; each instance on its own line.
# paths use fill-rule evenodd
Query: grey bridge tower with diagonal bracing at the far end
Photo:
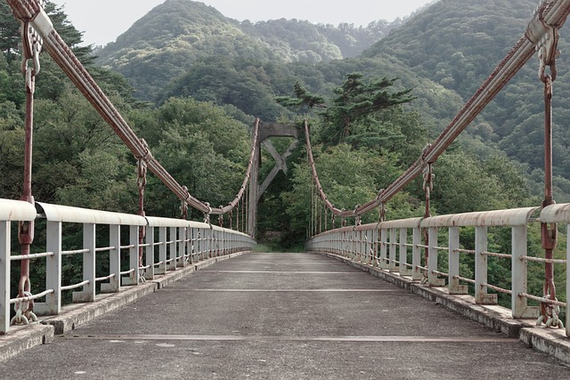
M 295 141 L 291 142 L 289 148 L 281 155 L 269 140 L 270 137 L 293 137 Z M 299 128 L 295 125 L 286 125 L 283 123 L 263 123 L 259 124 L 259 133 L 257 138 L 256 155 L 251 167 L 251 177 L 249 178 L 249 206 L 248 206 L 248 235 L 256 238 L 257 225 L 257 203 L 269 187 L 275 176 L 280 171 L 287 174 L 287 158 L 297 147 L 299 138 Z M 275 166 L 267 175 L 264 182 L 259 185 L 259 166 L 261 165 L 261 145 L 269 151 L 275 160 Z

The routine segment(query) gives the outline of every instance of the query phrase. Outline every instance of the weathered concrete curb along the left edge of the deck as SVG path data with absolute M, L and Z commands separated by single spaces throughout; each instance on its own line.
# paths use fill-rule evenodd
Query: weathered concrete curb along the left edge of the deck
M 28 326 L 12 327 L 10 332 L 0 336 L 0 362 L 8 360 L 20 352 L 41 344 L 53 342 L 54 336 L 69 333 L 110 311 L 115 311 L 127 303 L 132 303 L 144 295 L 156 292 L 173 282 L 183 279 L 195 271 L 243 255 L 238 252 L 231 255 L 212 257 L 199 263 L 191 263 L 179 270 L 152 279 L 135 287 L 124 287 L 119 293 L 97 295 L 94 303 L 75 303 L 67 305 L 60 314 L 41 318 L 40 323 Z

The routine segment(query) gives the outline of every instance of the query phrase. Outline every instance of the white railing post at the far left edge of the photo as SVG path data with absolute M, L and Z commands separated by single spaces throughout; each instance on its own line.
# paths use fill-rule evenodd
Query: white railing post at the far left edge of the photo
M 0 221 L 0 335 L 10 329 L 10 221 Z

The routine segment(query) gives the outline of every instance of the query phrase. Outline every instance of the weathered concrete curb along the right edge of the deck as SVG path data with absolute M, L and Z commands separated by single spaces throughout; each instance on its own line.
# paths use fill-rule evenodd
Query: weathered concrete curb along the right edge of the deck
M 401 277 L 397 273 L 381 270 L 367 263 L 355 262 L 344 256 L 322 252 L 314 253 L 334 258 L 360 271 L 369 272 L 372 276 L 439 303 L 447 309 L 460 313 L 465 318 L 492 328 L 496 332 L 518 338 L 521 342 L 528 344 L 529 347 L 548 353 L 556 359 L 570 364 L 570 340 L 566 337 L 563 329 L 536 327 L 533 320 L 512 318 L 510 309 L 505 307 L 476 304 L 472 295 L 450 295 L 447 287 L 428 287 L 419 284 L 418 281 L 413 281 L 410 277 Z

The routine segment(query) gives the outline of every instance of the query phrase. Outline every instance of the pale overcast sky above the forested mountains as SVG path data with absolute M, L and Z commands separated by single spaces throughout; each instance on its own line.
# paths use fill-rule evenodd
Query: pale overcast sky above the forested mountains
M 113 42 L 155 6 L 165 0 L 52 0 L 64 5 L 69 20 L 85 32 L 85 44 Z M 395 20 L 434 0 L 203 0 L 235 20 L 297 19 L 338 25 L 368 25 Z

